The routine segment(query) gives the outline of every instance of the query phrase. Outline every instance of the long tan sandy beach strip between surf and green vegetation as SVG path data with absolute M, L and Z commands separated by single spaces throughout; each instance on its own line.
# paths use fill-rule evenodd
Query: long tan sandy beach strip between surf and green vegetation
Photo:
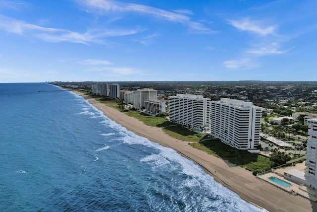
M 111 120 L 135 134 L 170 147 L 179 154 L 199 164 L 216 182 L 238 194 L 247 202 L 253 203 L 269 212 L 312 212 L 317 211 L 317 203 L 303 197 L 294 196 L 252 175 L 244 168 L 227 163 L 220 158 L 204 151 L 186 145 L 187 142 L 176 141 L 166 135 L 160 128 L 150 127 L 139 120 L 127 116 L 99 101 L 78 91 L 72 91 L 83 96 L 90 104 L 103 111 Z

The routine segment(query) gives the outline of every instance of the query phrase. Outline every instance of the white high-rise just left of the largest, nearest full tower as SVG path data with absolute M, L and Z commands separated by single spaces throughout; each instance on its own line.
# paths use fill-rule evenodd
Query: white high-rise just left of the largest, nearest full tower
M 211 100 L 201 95 L 176 94 L 168 97 L 169 120 L 191 128 L 210 126 Z

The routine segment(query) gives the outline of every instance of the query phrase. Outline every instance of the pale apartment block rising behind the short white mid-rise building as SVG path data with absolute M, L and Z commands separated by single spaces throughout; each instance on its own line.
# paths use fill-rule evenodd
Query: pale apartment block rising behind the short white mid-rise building
M 138 89 L 132 91 L 133 106 L 135 109 L 145 108 L 145 101 L 150 99 L 158 99 L 158 91 L 150 88 Z

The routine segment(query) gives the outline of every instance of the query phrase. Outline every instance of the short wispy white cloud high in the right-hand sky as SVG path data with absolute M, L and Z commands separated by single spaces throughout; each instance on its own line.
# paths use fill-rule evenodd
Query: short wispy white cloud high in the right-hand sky
M 230 20 L 230 24 L 242 31 L 250 31 L 261 36 L 275 35 L 277 26 L 268 25 L 262 23 L 261 21 L 252 21 L 249 17 L 240 20 Z

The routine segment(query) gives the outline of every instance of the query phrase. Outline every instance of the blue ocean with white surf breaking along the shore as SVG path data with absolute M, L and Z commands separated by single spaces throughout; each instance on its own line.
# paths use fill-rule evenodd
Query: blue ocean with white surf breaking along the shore
M 1 212 L 259 212 L 175 150 L 47 83 L 0 83 Z

